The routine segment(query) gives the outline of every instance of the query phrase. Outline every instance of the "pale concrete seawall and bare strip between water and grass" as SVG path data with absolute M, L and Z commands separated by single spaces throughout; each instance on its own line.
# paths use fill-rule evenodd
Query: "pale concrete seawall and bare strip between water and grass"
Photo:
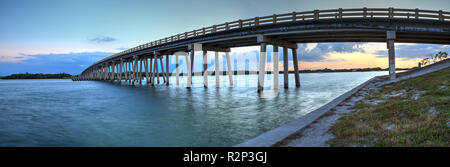
M 342 115 L 351 112 L 349 108 L 354 106 L 357 101 L 362 100 L 364 98 L 362 96 L 367 94 L 368 90 L 377 89 L 384 85 L 415 78 L 448 67 L 450 67 L 450 60 L 445 60 L 421 69 L 397 73 L 397 78 L 392 81 L 388 79 L 388 76 L 373 77 L 322 107 L 234 147 L 328 146 L 326 142 L 333 138 L 331 134 L 327 133 L 330 126 Z

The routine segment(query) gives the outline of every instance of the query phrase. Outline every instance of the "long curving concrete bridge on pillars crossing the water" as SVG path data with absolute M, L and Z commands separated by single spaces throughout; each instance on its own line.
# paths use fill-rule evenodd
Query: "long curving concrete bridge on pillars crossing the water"
M 169 85 L 168 57 L 175 56 L 178 67 L 179 56 L 185 55 L 187 87 L 190 88 L 194 53 L 203 51 L 204 85 L 208 87 L 206 55 L 208 51 L 213 51 L 216 74 L 219 72 L 218 52 L 226 53 L 227 74 L 232 85 L 230 48 L 259 45 L 258 91 L 262 91 L 266 46 L 273 45 L 274 88 L 278 89 L 278 47 L 283 49 L 283 60 L 288 60 L 288 50 L 291 50 L 295 85 L 298 87 L 300 77 L 297 43 L 307 42 L 386 42 L 389 50 L 389 75 L 391 79 L 395 79 L 394 43 L 450 44 L 450 12 L 397 8 L 339 8 L 240 19 L 176 34 L 116 53 L 90 65 L 73 80 L 124 80 L 131 84 L 142 84 L 142 80 L 146 78 L 148 84 L 154 85 L 155 78 L 159 83 L 159 75 L 162 75 L 165 84 Z M 164 56 L 167 56 L 165 70 L 162 61 Z M 288 61 L 283 62 L 284 87 L 287 88 Z M 156 68 L 158 64 L 163 69 L 161 72 Z M 176 84 L 179 82 L 178 76 L 177 68 Z M 216 81 L 218 79 L 216 75 Z

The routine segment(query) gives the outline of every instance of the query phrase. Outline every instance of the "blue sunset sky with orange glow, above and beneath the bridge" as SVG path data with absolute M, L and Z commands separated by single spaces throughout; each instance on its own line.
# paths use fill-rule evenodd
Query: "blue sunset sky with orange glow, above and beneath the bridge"
M 121 50 L 193 29 L 293 11 L 360 7 L 450 11 L 450 1 L 1 0 L 0 76 L 24 72 L 79 74 L 93 62 Z M 401 68 L 416 66 L 418 60 L 439 51 L 450 52 L 449 46 L 430 44 L 396 43 L 395 49 L 396 65 Z M 249 59 L 251 64 L 257 61 L 258 50 L 232 48 L 232 59 L 237 64 Z M 297 52 L 300 69 L 388 65 L 385 43 L 308 43 L 299 44 Z M 201 57 L 201 53 L 196 54 Z M 195 63 L 194 70 L 200 70 L 201 59 L 195 59 Z M 270 65 L 269 56 L 266 68 Z

